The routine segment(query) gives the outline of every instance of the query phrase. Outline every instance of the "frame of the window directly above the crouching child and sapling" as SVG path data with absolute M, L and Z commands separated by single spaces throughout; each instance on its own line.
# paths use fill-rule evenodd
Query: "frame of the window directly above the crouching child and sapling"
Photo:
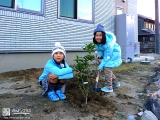
M 95 0 L 92 0 L 92 20 L 86 20 L 86 19 L 79 19 L 78 18 L 78 1 L 76 0 L 76 3 L 77 3 L 77 8 L 76 8 L 76 16 L 77 18 L 74 19 L 74 18 L 69 18 L 69 17 L 62 17 L 60 16 L 60 0 L 58 0 L 58 4 L 57 4 L 57 7 L 58 7 L 58 11 L 57 11 L 57 18 L 58 19 L 62 19 L 62 20 L 69 20 L 69 21 L 75 21 L 75 22 L 82 22 L 82 23 L 94 23 L 95 21 L 95 16 L 94 16 L 94 8 L 95 8 Z

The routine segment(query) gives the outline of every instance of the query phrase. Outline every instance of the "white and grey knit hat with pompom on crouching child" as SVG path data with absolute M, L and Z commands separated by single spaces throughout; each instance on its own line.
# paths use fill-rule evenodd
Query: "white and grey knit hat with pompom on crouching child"
M 55 43 L 55 47 L 52 49 L 52 56 L 56 52 L 62 52 L 64 54 L 64 56 L 66 57 L 66 51 L 65 51 L 64 47 L 61 45 L 61 43 L 59 43 L 59 42 Z

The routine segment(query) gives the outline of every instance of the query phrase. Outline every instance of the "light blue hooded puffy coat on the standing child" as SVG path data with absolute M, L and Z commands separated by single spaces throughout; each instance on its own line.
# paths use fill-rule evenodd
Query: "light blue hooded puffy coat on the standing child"
M 101 31 L 101 30 L 99 30 Z M 116 37 L 113 33 L 106 33 L 106 44 L 97 44 L 96 50 L 99 51 L 98 57 L 103 57 L 98 68 L 103 70 L 104 67 L 116 68 L 122 64 L 121 48 L 116 43 Z

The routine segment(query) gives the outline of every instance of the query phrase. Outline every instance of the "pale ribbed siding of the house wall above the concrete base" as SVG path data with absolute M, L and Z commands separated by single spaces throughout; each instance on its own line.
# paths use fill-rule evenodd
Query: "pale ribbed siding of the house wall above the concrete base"
M 57 19 L 58 0 L 45 0 L 45 16 L 0 10 L 0 53 L 48 52 L 59 41 L 68 51 L 92 42 L 98 23 L 114 32 L 114 0 L 95 0 L 95 23 Z

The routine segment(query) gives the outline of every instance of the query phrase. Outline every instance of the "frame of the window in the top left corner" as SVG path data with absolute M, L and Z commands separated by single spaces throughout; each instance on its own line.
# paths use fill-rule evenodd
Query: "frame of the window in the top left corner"
M 21 13 L 27 13 L 27 14 L 42 15 L 42 16 L 44 16 L 44 14 L 45 14 L 46 0 L 41 0 L 41 11 L 34 11 L 34 10 L 29 10 L 29 9 L 17 8 L 17 0 L 13 0 L 13 1 L 14 1 L 13 8 L 0 6 L 0 10 L 9 10 L 9 11 L 15 11 L 15 12 L 21 12 Z

